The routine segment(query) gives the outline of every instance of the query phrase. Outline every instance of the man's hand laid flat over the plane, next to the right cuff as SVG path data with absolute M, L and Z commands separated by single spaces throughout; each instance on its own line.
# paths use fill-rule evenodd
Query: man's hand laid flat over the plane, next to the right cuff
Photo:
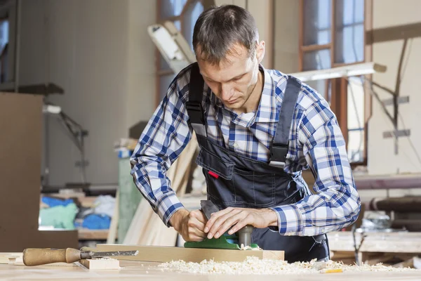
M 271 209 L 245 209 L 229 207 L 218 211 L 210 217 L 206 223 L 204 232 L 208 233 L 208 239 L 219 238 L 230 227 L 229 235 L 236 233 L 244 226 L 254 226 L 255 228 L 267 228 L 268 226 L 278 226 L 278 216 Z

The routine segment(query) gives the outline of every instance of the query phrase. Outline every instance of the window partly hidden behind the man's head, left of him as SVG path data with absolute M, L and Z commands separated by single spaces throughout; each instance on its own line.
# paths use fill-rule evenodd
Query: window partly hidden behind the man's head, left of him
M 158 22 L 173 21 L 175 27 L 180 30 L 193 49 L 193 29 L 197 18 L 203 12 L 202 2 L 200 0 L 158 0 L 157 5 Z M 166 95 L 168 86 L 176 73 L 171 70 L 157 49 L 156 62 L 156 105 L 158 105 Z

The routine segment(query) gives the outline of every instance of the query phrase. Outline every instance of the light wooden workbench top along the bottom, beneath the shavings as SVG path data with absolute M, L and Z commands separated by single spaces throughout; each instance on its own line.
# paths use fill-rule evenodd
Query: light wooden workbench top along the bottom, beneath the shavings
M 77 263 L 76 263 L 77 264 Z M 119 270 L 88 270 L 76 264 L 62 266 L 34 266 L 27 267 L 18 264 L 0 264 L 0 280 L 262 280 L 262 275 L 197 275 L 162 271 L 157 267 L 159 263 L 145 263 L 141 261 L 121 261 Z M 421 280 L 421 270 L 415 272 L 368 272 L 368 273 L 329 273 L 329 274 L 301 274 L 301 275 L 265 275 L 267 280 Z

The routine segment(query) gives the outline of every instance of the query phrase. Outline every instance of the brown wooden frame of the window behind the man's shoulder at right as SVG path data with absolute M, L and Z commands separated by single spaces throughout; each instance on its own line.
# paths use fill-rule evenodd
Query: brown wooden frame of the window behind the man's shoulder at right
M 312 44 L 304 45 L 304 28 L 305 28 L 305 7 L 304 1 L 300 0 L 299 8 L 299 34 L 298 34 L 298 68 L 302 72 L 304 68 L 304 55 L 307 52 L 311 51 L 320 51 L 330 49 L 330 67 L 340 67 L 345 65 L 354 65 L 358 63 L 367 63 L 371 62 L 373 58 L 373 48 L 368 43 L 367 34 L 370 30 L 373 29 L 373 0 L 363 0 L 364 1 L 364 19 L 363 19 L 363 60 L 356 63 L 335 63 L 335 41 L 336 41 L 336 1 L 330 0 L 331 5 L 331 14 L 330 14 L 330 43 L 328 44 Z M 366 81 L 371 79 L 371 74 L 366 75 Z M 326 93 L 324 96 L 328 96 L 330 88 L 330 107 L 335 112 L 338 118 L 338 124 L 342 131 L 342 134 L 345 138 L 345 143 L 348 145 L 348 120 L 347 120 L 347 79 L 345 78 L 336 78 L 336 79 L 326 79 Z M 367 89 L 368 85 L 364 83 L 364 88 Z M 368 145 L 368 119 L 370 119 L 372 114 L 372 97 L 371 95 L 365 95 L 364 97 L 364 147 L 363 147 L 363 161 L 361 162 L 352 162 L 351 166 L 367 166 L 367 145 Z

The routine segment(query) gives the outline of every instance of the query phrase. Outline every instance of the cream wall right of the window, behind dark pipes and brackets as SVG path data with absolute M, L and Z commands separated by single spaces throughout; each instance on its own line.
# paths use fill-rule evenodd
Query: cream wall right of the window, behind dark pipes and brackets
M 373 29 L 420 22 L 419 11 L 421 11 L 421 1 L 418 0 L 403 0 L 399 5 L 396 5 L 396 1 L 392 0 L 374 0 Z M 401 96 L 409 96 L 410 102 L 399 105 L 399 112 L 401 112 L 399 129 L 403 129 L 403 121 L 406 128 L 410 129 L 410 140 L 415 145 L 415 149 L 418 153 L 421 153 L 420 145 L 418 145 L 421 138 L 421 127 L 419 126 L 421 96 L 417 86 L 421 65 L 421 38 L 417 37 L 410 40 L 412 40 L 412 47 L 410 51 L 411 41 L 408 41 L 406 58 L 404 58 L 404 61 L 407 60 L 408 64 L 404 72 L 400 93 Z M 387 66 L 387 72 L 373 75 L 374 81 L 382 86 L 387 86 L 389 89 L 395 88 L 402 47 L 403 40 L 373 44 L 373 61 Z M 409 58 L 407 58 L 408 55 Z M 391 98 L 385 91 L 375 89 L 377 89 L 380 98 Z M 387 108 L 393 114 L 392 106 Z M 421 164 L 418 162 L 408 138 L 399 138 L 399 154 L 395 155 L 394 140 L 393 138 L 383 138 L 382 133 L 384 131 L 392 131 L 392 123 L 382 112 L 379 103 L 373 99 L 373 116 L 368 127 L 369 174 L 420 173 Z

